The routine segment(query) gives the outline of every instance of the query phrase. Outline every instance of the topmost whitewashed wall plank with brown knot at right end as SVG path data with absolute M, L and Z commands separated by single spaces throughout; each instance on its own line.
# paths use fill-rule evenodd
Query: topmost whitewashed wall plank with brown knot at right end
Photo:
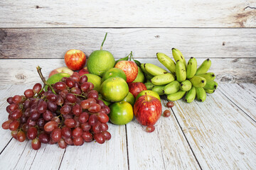
M 1 1 L 0 27 L 255 27 L 255 1 Z M 15 11 L 15 12 L 14 12 Z

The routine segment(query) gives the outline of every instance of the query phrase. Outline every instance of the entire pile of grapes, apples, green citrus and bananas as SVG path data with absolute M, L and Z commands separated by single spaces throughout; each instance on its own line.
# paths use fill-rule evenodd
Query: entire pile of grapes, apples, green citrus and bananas
M 58 143 L 60 148 L 68 145 L 83 145 L 96 141 L 100 144 L 111 139 L 107 123 L 126 125 L 135 117 L 153 132 L 162 113 L 161 95 L 167 95 L 166 106 L 182 98 L 191 103 L 194 98 L 206 100 L 206 92 L 217 88 L 215 75 L 207 73 L 210 60 L 197 69 L 196 59 L 186 61 L 177 49 L 173 49 L 174 62 L 163 53 L 158 60 L 169 72 L 154 64 L 134 60 L 132 52 L 115 61 L 111 52 L 93 51 L 88 60 L 81 50 L 65 53 L 67 67 L 54 69 L 48 79 L 37 67 L 42 84 L 35 84 L 24 95 L 7 98 L 8 120 L 2 128 L 11 130 L 19 142 L 28 138 L 33 149 L 41 143 Z M 85 67 L 85 63 L 87 65 Z

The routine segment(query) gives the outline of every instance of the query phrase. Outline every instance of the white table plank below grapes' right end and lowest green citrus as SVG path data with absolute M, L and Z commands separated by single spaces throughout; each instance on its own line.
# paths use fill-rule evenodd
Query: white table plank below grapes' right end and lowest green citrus
M 125 126 L 108 125 L 109 141 L 67 147 L 60 169 L 129 169 Z

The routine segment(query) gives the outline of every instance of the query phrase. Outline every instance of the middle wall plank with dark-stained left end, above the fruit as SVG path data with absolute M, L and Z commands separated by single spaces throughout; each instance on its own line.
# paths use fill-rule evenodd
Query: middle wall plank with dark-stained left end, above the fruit
M 256 11 L 256 10 L 255 10 Z M 2 28 L 0 58 L 63 58 L 70 49 L 87 56 L 104 49 L 114 57 L 154 58 L 177 47 L 185 57 L 255 57 L 255 28 Z

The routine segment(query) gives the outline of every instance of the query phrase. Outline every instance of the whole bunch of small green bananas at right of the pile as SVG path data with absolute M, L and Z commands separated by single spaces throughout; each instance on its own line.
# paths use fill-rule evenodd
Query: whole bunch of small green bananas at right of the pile
M 156 53 L 161 64 L 169 70 L 157 67 L 154 64 L 144 63 L 141 68 L 145 73 L 147 89 L 156 91 L 159 95 L 166 95 L 169 101 L 177 101 L 185 96 L 185 101 L 191 103 L 195 98 L 198 101 L 206 100 L 206 93 L 213 94 L 217 89 L 214 81 L 215 74 L 208 72 L 211 61 L 205 60 L 197 68 L 196 58 L 191 57 L 186 64 L 180 50 L 172 48 L 174 60 L 164 53 Z

